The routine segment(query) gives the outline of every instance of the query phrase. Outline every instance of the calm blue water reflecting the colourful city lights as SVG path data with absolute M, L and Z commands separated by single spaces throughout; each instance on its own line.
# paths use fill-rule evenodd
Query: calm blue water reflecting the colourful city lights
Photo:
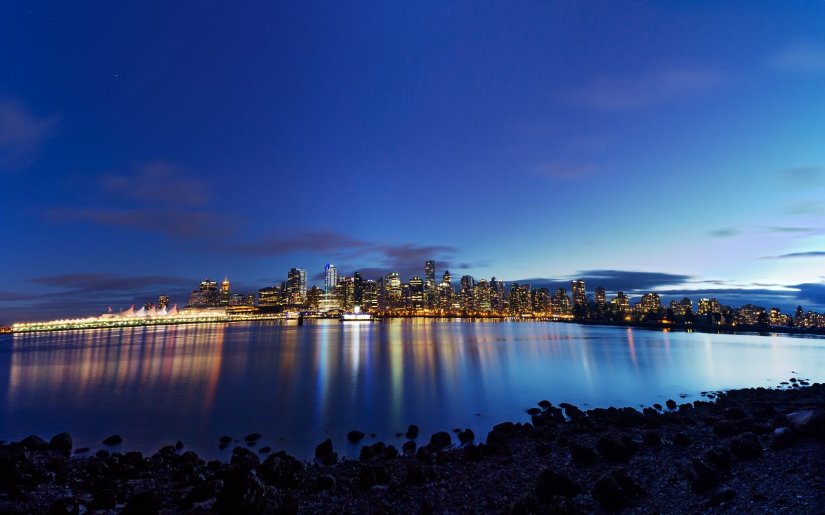
M 262 433 L 309 457 L 357 428 L 400 447 L 452 428 L 486 434 L 542 399 L 664 404 L 680 394 L 825 382 L 825 339 L 708 335 L 542 322 L 393 321 L 180 325 L 0 339 L 0 438 L 72 433 L 129 450 L 181 439 L 205 457 L 223 434 Z

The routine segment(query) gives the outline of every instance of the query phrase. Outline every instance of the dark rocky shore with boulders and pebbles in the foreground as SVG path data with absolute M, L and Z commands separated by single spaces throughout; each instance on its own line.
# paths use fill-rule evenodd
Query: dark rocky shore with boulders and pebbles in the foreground
M 206 462 L 182 442 L 144 456 L 32 436 L 0 445 L 0 513 L 825 513 L 825 385 L 788 383 L 643 411 L 541 401 L 528 424 L 411 426 L 354 460 L 330 441 L 304 462 L 226 437 L 231 461 Z

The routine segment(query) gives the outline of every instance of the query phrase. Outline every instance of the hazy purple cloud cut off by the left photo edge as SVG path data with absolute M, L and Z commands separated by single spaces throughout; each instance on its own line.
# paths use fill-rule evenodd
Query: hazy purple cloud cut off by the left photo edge
M 26 166 L 58 121 L 58 115 L 38 117 L 18 101 L 0 99 L 0 170 Z

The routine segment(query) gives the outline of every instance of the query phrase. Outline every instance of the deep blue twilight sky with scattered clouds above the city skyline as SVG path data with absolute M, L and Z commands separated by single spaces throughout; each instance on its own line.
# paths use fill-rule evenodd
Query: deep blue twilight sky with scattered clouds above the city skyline
M 823 26 L 788 0 L 2 2 L 0 323 L 427 259 L 823 311 Z

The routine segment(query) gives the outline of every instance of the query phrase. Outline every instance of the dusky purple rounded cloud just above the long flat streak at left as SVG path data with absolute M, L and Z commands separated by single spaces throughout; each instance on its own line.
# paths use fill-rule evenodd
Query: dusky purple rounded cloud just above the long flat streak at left
M 180 166 L 166 161 L 138 166 L 134 174 L 104 176 L 101 187 L 107 195 L 146 204 L 202 206 L 213 199 L 207 182 L 186 176 Z

